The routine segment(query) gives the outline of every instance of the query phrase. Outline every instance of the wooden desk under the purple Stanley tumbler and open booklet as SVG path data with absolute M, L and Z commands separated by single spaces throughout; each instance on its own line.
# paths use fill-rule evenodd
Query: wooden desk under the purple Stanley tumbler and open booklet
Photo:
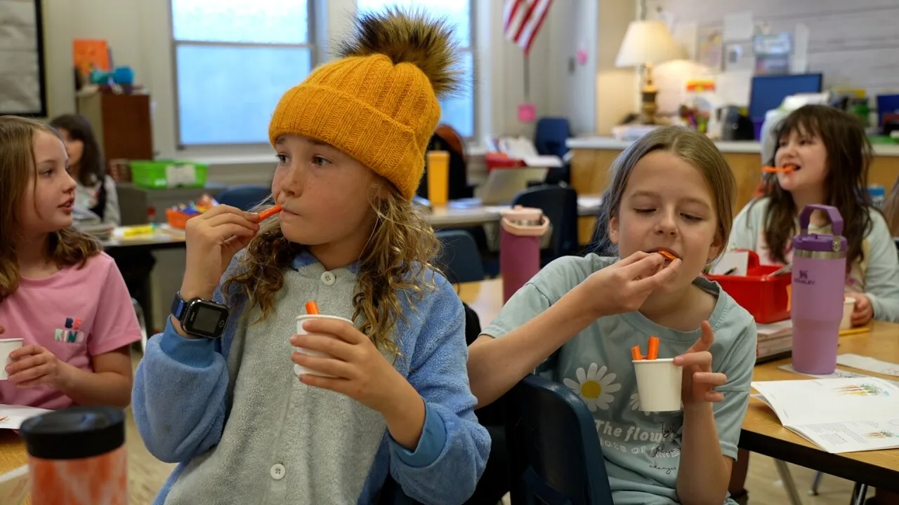
M 877 322 L 873 332 L 841 337 L 840 353 L 899 363 L 899 324 Z M 760 365 L 753 371 L 752 380 L 811 378 L 778 368 L 789 362 L 789 359 L 781 359 Z M 895 377 L 878 376 L 864 370 L 854 371 L 895 380 Z M 784 428 L 774 412 L 759 400 L 750 400 L 740 434 L 740 447 L 852 482 L 899 492 L 899 449 L 830 454 Z

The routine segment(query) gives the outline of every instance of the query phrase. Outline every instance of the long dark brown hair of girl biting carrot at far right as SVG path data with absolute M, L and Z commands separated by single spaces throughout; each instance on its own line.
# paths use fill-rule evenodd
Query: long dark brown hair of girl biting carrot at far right
M 874 151 L 865 135 L 861 121 L 849 112 L 827 105 L 806 105 L 790 113 L 772 133 L 780 141 L 791 133 L 818 137 L 827 152 L 827 177 L 824 179 L 825 200 L 821 203 L 840 211 L 847 268 L 864 259 L 862 243 L 871 231 L 871 198 L 868 195 L 868 168 Z M 774 151 L 777 155 L 777 150 Z M 774 165 L 774 160 L 770 160 Z M 787 262 L 793 235 L 799 233 L 796 217 L 799 209 L 793 195 L 783 190 L 774 173 L 766 173 L 765 196 L 769 198 L 765 216 L 765 242 L 771 257 Z M 759 200 L 754 200 L 751 205 Z

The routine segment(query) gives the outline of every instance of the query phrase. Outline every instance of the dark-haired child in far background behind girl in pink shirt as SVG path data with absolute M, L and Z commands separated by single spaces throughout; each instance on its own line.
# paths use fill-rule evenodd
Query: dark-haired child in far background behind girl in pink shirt
M 119 193 L 106 174 L 100 144 L 84 116 L 66 114 L 50 121 L 66 142 L 69 173 L 75 178 L 75 204 L 90 210 L 103 223 L 121 224 Z

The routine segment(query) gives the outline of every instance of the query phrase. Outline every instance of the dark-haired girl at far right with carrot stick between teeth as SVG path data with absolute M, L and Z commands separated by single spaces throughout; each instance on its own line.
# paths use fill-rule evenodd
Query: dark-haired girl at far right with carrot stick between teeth
M 899 258 L 886 219 L 868 196 L 872 150 L 859 119 L 826 105 L 806 105 L 790 113 L 773 135 L 778 144 L 769 164 L 792 171 L 765 174 L 766 194 L 737 215 L 728 249 L 755 251 L 762 264 L 789 263 L 802 209 L 833 206 L 849 243 L 845 290 L 856 300 L 852 325 L 899 321 Z M 809 231 L 830 233 L 826 215 L 815 212 Z M 739 461 L 730 489 L 743 497 L 749 453 L 741 451 Z

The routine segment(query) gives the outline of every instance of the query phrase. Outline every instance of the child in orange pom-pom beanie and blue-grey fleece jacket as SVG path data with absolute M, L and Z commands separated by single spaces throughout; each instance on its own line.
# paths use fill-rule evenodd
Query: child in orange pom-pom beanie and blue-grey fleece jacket
M 483 472 L 465 315 L 412 205 L 458 50 L 419 15 L 366 14 L 356 29 L 274 111 L 279 217 L 218 206 L 188 222 L 176 306 L 215 297 L 230 315 L 212 339 L 174 315 L 138 367 L 138 430 L 181 464 L 157 504 L 372 503 L 389 474 L 414 500 L 450 505 Z M 353 323 L 295 335 L 307 300 Z

